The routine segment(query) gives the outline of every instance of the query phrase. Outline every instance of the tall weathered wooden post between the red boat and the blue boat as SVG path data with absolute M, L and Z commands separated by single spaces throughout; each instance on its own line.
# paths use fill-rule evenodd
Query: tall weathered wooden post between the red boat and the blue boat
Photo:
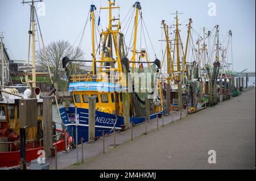
M 52 98 L 45 96 L 43 97 L 43 135 L 46 158 L 51 156 L 52 134 Z

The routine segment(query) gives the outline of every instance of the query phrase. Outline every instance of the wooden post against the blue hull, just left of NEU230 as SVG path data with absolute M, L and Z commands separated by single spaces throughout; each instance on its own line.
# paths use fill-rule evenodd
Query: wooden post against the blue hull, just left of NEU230
M 88 127 L 88 138 L 93 140 L 95 138 L 95 106 L 96 106 L 96 97 L 89 97 L 89 127 Z

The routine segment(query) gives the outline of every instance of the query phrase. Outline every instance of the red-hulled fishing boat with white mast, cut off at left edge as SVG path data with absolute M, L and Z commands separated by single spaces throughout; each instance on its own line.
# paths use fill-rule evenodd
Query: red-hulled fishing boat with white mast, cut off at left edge
M 31 162 L 34 159 L 38 159 L 39 156 L 42 156 L 41 150 L 44 150 L 43 99 L 40 96 L 40 88 L 36 87 L 35 69 L 35 23 L 38 23 L 39 26 L 39 22 L 35 11 L 34 0 L 31 2 L 23 1 L 23 3 L 31 3 L 31 24 L 30 30 L 28 31 L 30 41 L 28 52 L 32 52 L 32 66 L 29 60 L 30 54 L 28 54 L 27 66 L 20 68 L 24 70 L 25 82 L 22 82 L 23 86 L 9 86 L 5 82 L 5 77 L 2 77 L 0 90 L 0 167 L 3 169 L 16 168 L 19 165 L 22 165 L 20 166 L 20 169 L 26 169 L 26 163 Z M 41 32 L 40 34 L 42 37 Z M 31 40 L 32 50 L 30 50 Z M 7 50 L 4 50 L 3 41 L 1 41 L 1 47 L 1 59 L 2 62 L 4 62 Z M 2 64 L 2 71 L 5 68 L 5 65 L 6 64 Z M 18 91 L 21 87 L 25 89 L 24 92 Z M 20 128 L 20 105 L 22 106 L 23 104 L 20 104 L 19 100 L 30 98 L 36 99 L 36 107 L 33 109 L 37 111 L 37 119 L 35 120 L 37 122 L 34 123 L 37 126 Z M 65 146 L 65 135 L 67 136 L 67 139 L 69 136 L 68 134 L 65 134 L 65 128 L 56 129 L 56 125 L 54 124 L 53 134 L 52 146 L 56 146 L 57 151 L 67 149 Z M 22 139 L 21 141 L 21 137 L 26 137 L 26 140 Z M 25 146 L 20 146 L 22 143 Z M 26 158 L 24 158 L 24 155 L 26 155 Z

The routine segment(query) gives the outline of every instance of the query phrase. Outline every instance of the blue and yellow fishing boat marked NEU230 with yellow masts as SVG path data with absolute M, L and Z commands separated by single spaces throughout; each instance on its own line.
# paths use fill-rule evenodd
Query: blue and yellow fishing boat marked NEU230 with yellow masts
M 136 2 L 133 7 L 136 11 L 134 22 L 136 28 L 134 33 L 137 35 L 138 12 L 141 10 L 141 5 L 139 2 Z M 154 77 L 150 74 L 152 77 L 151 83 L 155 86 L 155 90 L 151 90 L 152 92 L 150 93 L 135 92 L 135 89 L 141 90 L 142 87 L 139 87 L 137 85 L 138 82 L 134 81 L 134 77 L 130 76 L 130 73 L 137 73 L 138 75 L 138 73 L 145 73 L 146 71 L 148 73 L 152 73 L 152 71 L 157 73 L 160 62 L 157 59 L 150 62 L 146 49 L 142 48 L 139 51 L 135 49 L 136 36 L 134 39 L 133 57 L 129 61 L 125 52 L 125 40 L 121 32 L 121 22 L 119 18 L 112 17 L 112 10 L 119 9 L 119 7 L 115 6 L 115 2 L 109 1 L 109 6 L 101 7 L 101 10 L 103 9 L 109 10 L 109 24 L 108 28 L 101 32 L 103 43 L 101 45 L 100 60 L 96 60 L 96 54 L 100 51 L 99 47 L 101 46 L 99 45 L 97 51 L 95 50 L 94 33 L 92 33 L 92 71 L 86 75 L 70 76 L 69 91 L 72 92 L 74 107 L 64 103 L 65 107 L 60 108 L 62 123 L 67 126 L 69 134 L 75 132 L 77 127 L 77 137 L 74 137 L 73 141 L 78 142 L 78 144 L 81 141 L 81 137 L 85 141 L 90 141 L 88 137 L 90 97 L 96 98 L 95 137 L 102 136 L 102 131 L 105 134 L 110 134 L 113 132 L 113 129 L 121 130 L 123 127 L 125 129 L 128 128 L 127 125 L 125 126 L 123 118 L 124 110 L 126 109 L 123 104 L 124 94 L 130 98 L 131 124 L 141 124 L 146 121 L 145 98 L 148 95 L 152 97 L 150 119 L 155 119 L 158 115 L 162 115 L 164 110 L 161 96 L 153 94 L 160 87 L 158 85 L 158 75 L 156 74 Z M 92 32 L 95 31 L 95 11 L 96 7 L 91 5 Z M 114 22 L 117 22 L 117 24 L 114 24 Z M 139 61 L 136 61 L 135 57 L 139 57 Z M 145 58 L 147 61 L 143 62 L 142 58 Z M 68 57 L 63 58 L 63 68 L 65 70 L 67 70 L 67 64 L 71 61 Z M 130 64 L 133 66 L 130 67 Z M 143 64 L 148 66 L 144 67 Z M 130 87 L 127 82 L 131 83 Z M 150 86 L 150 88 L 152 87 Z M 131 92 L 128 91 L 129 89 L 131 89 Z

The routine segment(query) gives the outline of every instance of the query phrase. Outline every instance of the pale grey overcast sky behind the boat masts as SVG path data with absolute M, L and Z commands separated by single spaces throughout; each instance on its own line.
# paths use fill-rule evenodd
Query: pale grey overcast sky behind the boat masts
M 28 0 L 27 0 L 28 1 Z M 28 29 L 30 11 L 28 5 L 22 5 L 21 0 L 0 0 L 0 32 L 5 32 L 5 42 L 11 57 L 15 60 L 26 60 L 28 52 Z M 84 27 L 89 7 L 94 3 L 99 12 L 101 6 L 108 5 L 106 0 L 44 0 L 45 15 L 40 15 L 39 22 L 45 44 L 56 40 L 68 40 L 71 44 L 79 36 Z M 117 0 L 121 10 L 121 20 L 125 18 L 135 1 Z M 220 39 L 224 39 L 229 30 L 233 32 L 233 61 L 234 69 L 255 71 L 255 1 L 254 0 L 141 0 L 143 19 L 146 24 L 156 55 L 161 57 L 160 40 L 161 20 L 174 22 L 176 10 L 183 12 L 179 15 L 180 23 L 188 23 L 193 19 L 193 29 L 202 34 L 202 28 L 212 30 L 220 25 Z M 216 16 L 209 16 L 208 11 L 213 2 L 216 5 Z M 209 4 L 210 3 L 210 4 Z M 40 14 L 42 6 L 36 5 Z M 101 23 L 105 27 L 106 11 L 101 10 Z M 132 28 L 132 26 L 131 26 Z M 185 43 L 186 28 L 181 28 L 183 43 Z M 196 33 L 194 34 L 196 35 Z M 196 39 L 197 37 L 193 37 Z M 130 39 L 127 38 L 126 42 Z M 196 41 L 196 40 L 195 40 Z M 91 58 L 90 26 L 86 28 L 81 48 L 85 58 Z M 75 44 L 78 46 L 78 41 Z M 150 43 L 148 42 L 148 47 Z

